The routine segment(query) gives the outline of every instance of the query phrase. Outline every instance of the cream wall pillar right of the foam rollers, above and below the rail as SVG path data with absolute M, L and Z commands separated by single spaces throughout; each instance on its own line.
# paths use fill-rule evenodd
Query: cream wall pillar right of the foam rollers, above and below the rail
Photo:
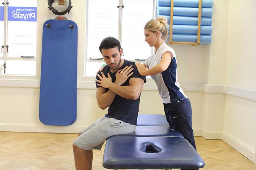
M 223 86 L 227 54 L 227 20 L 229 1 L 214 0 L 212 12 L 212 42 L 205 57 L 205 83 Z M 225 108 L 223 93 L 205 93 L 202 135 L 206 139 L 221 139 Z

